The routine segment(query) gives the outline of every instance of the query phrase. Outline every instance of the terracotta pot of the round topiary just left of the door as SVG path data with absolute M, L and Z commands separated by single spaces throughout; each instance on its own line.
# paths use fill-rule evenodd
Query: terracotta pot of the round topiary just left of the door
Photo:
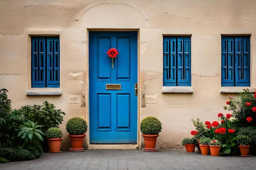
M 83 151 L 83 138 L 85 137 L 85 134 L 83 135 L 68 135 L 71 140 L 72 148 L 70 148 L 70 151 Z

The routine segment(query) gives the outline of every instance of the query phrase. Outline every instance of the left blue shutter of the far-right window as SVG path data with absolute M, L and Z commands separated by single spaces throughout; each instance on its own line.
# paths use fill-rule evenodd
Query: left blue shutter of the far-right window
M 222 36 L 221 86 L 234 86 L 234 37 Z

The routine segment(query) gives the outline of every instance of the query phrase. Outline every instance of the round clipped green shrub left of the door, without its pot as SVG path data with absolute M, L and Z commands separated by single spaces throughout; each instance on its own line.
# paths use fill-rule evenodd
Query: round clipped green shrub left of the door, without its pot
M 66 130 L 70 135 L 83 135 L 87 131 L 87 122 L 81 117 L 73 117 L 67 121 Z

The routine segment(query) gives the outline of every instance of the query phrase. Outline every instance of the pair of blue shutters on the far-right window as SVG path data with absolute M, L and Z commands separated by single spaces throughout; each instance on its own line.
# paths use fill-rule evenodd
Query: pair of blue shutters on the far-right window
M 222 36 L 221 86 L 250 86 L 250 37 Z

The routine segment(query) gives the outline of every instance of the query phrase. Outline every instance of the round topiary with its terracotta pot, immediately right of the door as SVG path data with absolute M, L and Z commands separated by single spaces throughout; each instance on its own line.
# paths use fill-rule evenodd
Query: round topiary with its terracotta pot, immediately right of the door
M 158 133 L 162 130 L 162 123 L 156 117 L 146 117 L 140 123 L 140 131 L 144 137 L 144 151 L 157 151 L 155 148 Z

